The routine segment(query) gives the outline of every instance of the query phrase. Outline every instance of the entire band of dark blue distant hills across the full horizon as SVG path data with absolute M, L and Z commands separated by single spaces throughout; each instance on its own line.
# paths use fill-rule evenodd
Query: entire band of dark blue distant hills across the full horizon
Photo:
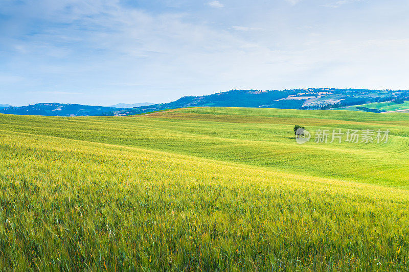
M 184 96 L 176 101 L 146 106 L 110 107 L 40 103 L 0 108 L 0 113 L 49 116 L 125 116 L 186 107 L 249 107 L 279 109 L 331 109 L 374 102 L 409 100 L 408 91 L 308 88 L 292 90 L 230 90 L 210 95 Z M 149 103 L 150 104 L 150 103 Z M 137 104 L 138 105 L 138 104 Z M 119 106 L 123 106 L 117 108 Z

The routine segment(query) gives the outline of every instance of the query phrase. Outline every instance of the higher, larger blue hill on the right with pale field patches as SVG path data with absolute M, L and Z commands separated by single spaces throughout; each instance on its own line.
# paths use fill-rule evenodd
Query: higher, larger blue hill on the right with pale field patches
M 230 90 L 203 96 L 184 96 L 176 101 L 106 113 L 134 115 L 185 107 L 249 107 L 278 109 L 329 109 L 371 102 L 392 101 L 408 96 L 407 91 L 304 88 L 291 90 Z

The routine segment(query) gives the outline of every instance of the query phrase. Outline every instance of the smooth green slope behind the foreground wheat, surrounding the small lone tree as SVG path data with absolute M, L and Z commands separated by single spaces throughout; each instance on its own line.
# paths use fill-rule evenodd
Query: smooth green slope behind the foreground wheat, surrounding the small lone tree
M 294 174 L 407 188 L 409 121 L 406 116 L 403 113 L 190 108 L 120 118 L 1 115 L 0 122 L 11 131 L 142 147 Z M 309 142 L 299 145 L 292 134 L 296 124 L 311 132 L 389 129 L 391 135 L 387 144 Z

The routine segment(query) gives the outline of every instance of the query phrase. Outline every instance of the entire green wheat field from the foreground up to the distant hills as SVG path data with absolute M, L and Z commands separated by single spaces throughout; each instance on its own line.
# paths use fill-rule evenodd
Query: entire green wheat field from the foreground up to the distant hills
M 407 113 L 0 115 L 0 186 L 7 271 L 409 271 Z

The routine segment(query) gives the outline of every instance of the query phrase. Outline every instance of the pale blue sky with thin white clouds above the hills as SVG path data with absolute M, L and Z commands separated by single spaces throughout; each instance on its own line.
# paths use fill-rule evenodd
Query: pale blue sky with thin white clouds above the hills
M 0 0 L 0 104 L 409 89 L 408 0 Z

